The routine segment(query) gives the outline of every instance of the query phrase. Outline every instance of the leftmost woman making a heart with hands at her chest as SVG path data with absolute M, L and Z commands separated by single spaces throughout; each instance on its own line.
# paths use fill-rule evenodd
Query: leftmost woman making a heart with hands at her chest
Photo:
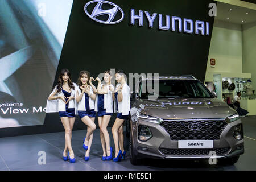
M 58 84 L 48 97 L 46 113 L 59 112 L 61 122 L 65 129 L 65 148 L 63 160 L 75 163 L 75 154 L 71 146 L 72 129 L 76 119 L 76 108 L 74 102 L 75 87 L 77 85 L 71 81 L 71 73 L 68 69 L 62 69 L 59 75 Z M 68 149 L 68 153 L 67 153 Z

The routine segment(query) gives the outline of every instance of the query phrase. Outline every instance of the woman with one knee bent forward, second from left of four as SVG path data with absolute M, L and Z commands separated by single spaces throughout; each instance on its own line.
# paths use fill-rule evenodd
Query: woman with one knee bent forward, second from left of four
M 81 71 L 79 73 L 79 79 L 76 88 L 75 98 L 77 105 L 77 111 L 82 122 L 87 125 L 87 134 L 84 138 L 82 147 L 86 150 L 84 160 L 89 160 L 90 146 L 92 145 L 93 131 L 96 129 L 94 123 L 95 111 L 94 111 L 94 101 L 96 99 L 97 89 L 92 84 L 93 78 L 90 77 L 88 71 Z M 89 82 L 89 84 L 88 84 Z

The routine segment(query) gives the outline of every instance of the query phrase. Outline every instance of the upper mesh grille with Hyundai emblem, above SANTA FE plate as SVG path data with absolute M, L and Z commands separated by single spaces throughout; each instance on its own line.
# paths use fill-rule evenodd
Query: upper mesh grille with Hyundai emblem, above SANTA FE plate
M 218 140 L 227 123 L 224 120 L 163 120 L 161 126 L 171 140 Z

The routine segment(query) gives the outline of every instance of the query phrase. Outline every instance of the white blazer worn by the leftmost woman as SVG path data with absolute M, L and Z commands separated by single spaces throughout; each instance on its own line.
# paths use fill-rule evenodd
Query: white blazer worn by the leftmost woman
M 73 85 L 75 86 L 75 89 L 76 89 L 77 85 L 75 83 L 73 83 Z M 71 97 L 75 97 L 75 89 L 72 89 Z M 51 94 L 53 94 L 53 92 L 55 92 L 55 90 L 57 90 L 57 85 L 52 90 Z M 49 96 L 51 96 L 51 94 Z M 55 96 L 64 96 L 64 93 L 62 92 L 62 87 L 61 87 L 61 91 L 57 92 L 55 94 Z M 76 107 L 75 99 L 68 102 L 68 108 L 69 109 L 75 108 L 75 114 L 77 113 L 77 107 Z M 47 99 L 46 113 L 57 113 L 57 112 L 65 112 L 65 111 L 66 111 L 66 104 L 63 100 L 61 100 L 61 99 L 48 100 Z

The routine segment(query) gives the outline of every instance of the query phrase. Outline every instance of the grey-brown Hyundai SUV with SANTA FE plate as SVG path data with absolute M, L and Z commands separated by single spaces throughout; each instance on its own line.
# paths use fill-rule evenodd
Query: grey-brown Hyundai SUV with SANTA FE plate
M 143 93 L 141 79 L 131 94 L 130 160 L 207 159 L 234 164 L 243 154 L 242 121 L 193 76 L 159 76 L 158 98 Z M 156 78 L 151 78 L 156 81 Z M 154 83 L 152 83 L 154 85 Z M 146 86 L 146 87 L 145 87 Z

